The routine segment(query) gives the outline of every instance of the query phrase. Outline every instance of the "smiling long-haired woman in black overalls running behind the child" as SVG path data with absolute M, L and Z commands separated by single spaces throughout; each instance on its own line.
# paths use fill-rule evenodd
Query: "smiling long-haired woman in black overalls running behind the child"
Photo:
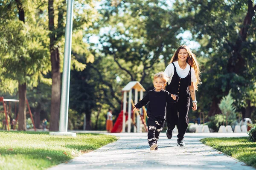
M 189 124 L 190 97 L 192 98 L 192 111 L 197 110 L 195 91 L 198 90 L 200 82 L 200 70 L 195 54 L 192 53 L 188 46 L 181 45 L 164 72 L 169 77 L 166 91 L 179 96 L 178 102 L 167 103 L 166 123 L 168 128 L 166 136 L 171 139 L 173 129 L 177 125 L 177 145 L 185 146 L 183 138 Z

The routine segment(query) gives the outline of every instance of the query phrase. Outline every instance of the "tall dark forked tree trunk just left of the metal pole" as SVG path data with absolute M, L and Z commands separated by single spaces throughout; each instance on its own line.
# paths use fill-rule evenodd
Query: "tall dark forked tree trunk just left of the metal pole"
M 58 25 L 55 28 L 55 7 L 54 0 L 48 1 L 48 17 L 49 17 L 49 50 L 52 66 L 52 95 L 51 95 L 51 121 L 49 130 L 57 131 L 60 118 L 60 103 L 61 103 L 61 72 L 60 72 L 60 45 L 57 40 L 64 36 L 64 6 L 66 1 L 58 4 Z M 57 30 L 58 29 L 58 30 Z

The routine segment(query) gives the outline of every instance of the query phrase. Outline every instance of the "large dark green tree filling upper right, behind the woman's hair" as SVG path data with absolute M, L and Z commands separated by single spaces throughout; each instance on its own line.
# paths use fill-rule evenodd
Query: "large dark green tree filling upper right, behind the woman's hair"
M 256 75 L 256 4 L 251 0 L 188 0 L 176 4 L 189 9 L 188 29 L 201 44 L 205 70 L 200 96 L 202 101 L 211 100 L 205 102 L 210 105 L 208 115 L 220 113 L 218 103 L 230 88 L 244 115 Z

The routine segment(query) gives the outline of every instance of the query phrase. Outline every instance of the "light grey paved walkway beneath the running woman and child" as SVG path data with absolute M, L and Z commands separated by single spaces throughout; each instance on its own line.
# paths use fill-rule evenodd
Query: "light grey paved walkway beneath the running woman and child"
M 119 140 L 49 170 L 255 170 L 199 142 L 205 137 L 241 137 L 246 133 L 186 133 L 186 147 L 178 147 L 177 133 L 160 134 L 159 149 L 150 151 L 147 133 L 111 133 Z

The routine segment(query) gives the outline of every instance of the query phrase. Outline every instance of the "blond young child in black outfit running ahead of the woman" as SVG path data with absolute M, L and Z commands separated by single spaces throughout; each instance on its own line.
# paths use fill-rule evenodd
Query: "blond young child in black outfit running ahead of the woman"
M 148 143 L 150 150 L 157 150 L 157 140 L 160 132 L 163 130 L 166 117 L 166 103 L 175 103 L 178 101 L 177 95 L 172 95 L 168 91 L 163 90 L 166 86 L 168 78 L 164 72 L 159 72 L 154 75 L 154 90 L 148 91 L 140 102 L 138 102 L 133 111 L 139 111 L 148 102 Z

